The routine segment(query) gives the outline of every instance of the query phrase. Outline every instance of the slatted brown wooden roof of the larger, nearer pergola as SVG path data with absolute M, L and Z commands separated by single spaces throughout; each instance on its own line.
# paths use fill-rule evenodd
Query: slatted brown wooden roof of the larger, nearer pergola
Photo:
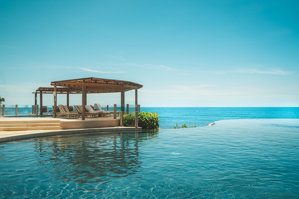
M 140 89 L 143 87 L 141 84 L 137 84 L 131 81 L 102 79 L 102 78 L 80 78 L 63 81 L 52 81 L 51 85 L 57 86 L 57 93 L 82 93 L 82 83 L 85 83 L 86 93 L 109 93 L 109 92 L 122 92 L 133 89 Z M 67 88 L 59 88 L 67 87 Z M 42 89 L 42 88 L 41 88 Z M 48 88 L 44 88 L 45 92 Z M 36 90 L 37 91 L 37 90 Z M 53 92 L 49 90 L 49 92 Z

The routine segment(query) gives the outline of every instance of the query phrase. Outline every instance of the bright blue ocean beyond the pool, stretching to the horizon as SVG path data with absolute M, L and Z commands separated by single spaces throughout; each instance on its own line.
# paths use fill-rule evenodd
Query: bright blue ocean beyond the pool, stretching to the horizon
M 50 109 L 51 106 L 48 107 Z M 120 111 L 120 106 L 117 109 Z M 140 111 L 158 113 L 161 129 L 173 129 L 176 124 L 179 127 L 183 124 L 187 127 L 203 127 L 218 120 L 299 118 L 299 107 L 141 107 Z M 32 107 L 18 108 L 18 115 L 29 115 L 31 112 Z M 5 115 L 15 113 L 14 106 L 5 106 Z

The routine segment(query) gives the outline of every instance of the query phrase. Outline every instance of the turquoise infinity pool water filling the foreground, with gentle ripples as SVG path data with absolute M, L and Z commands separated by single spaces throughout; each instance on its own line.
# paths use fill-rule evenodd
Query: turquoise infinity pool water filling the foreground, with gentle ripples
M 299 198 L 299 119 L 0 146 L 0 198 Z

